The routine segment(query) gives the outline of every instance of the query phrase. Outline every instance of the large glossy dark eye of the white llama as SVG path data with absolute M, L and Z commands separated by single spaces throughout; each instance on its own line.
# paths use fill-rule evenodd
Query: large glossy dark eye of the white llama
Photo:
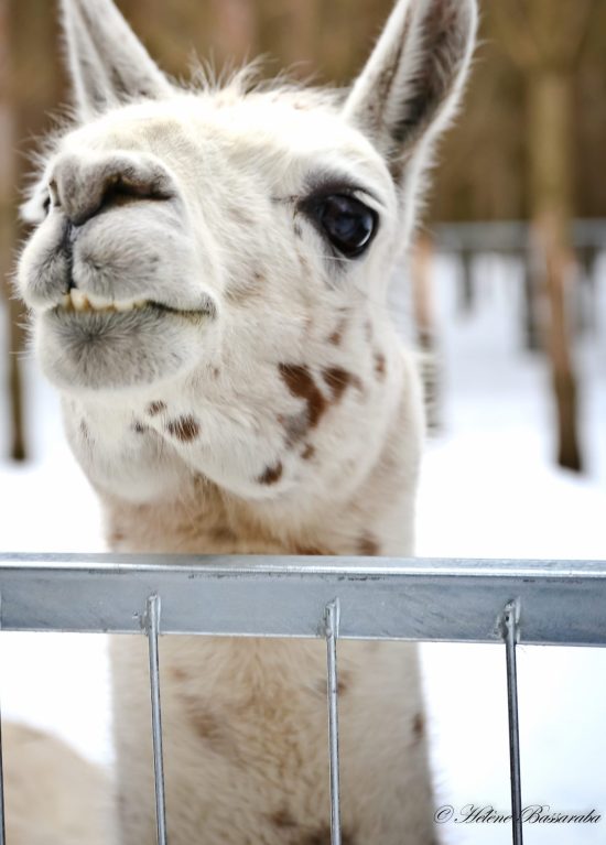
M 333 246 L 347 258 L 361 256 L 377 229 L 376 213 L 345 194 L 323 197 L 312 213 Z

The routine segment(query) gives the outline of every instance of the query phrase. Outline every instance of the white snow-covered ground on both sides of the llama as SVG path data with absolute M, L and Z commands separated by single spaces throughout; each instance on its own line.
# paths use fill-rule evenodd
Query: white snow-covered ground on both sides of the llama
M 578 349 L 587 473 L 556 470 L 549 373 L 521 350 L 519 269 L 476 262 L 476 310 L 456 315 L 457 267 L 436 264 L 444 365 L 443 433 L 428 448 L 418 551 L 426 556 L 606 559 L 606 260 L 599 334 Z M 0 318 L 4 315 L 0 312 Z M 0 325 L 0 333 L 2 326 Z M 99 551 L 95 497 L 61 433 L 56 399 L 28 369 L 35 461 L 0 464 L 0 549 Z M 6 438 L 0 414 L 0 454 Z M 109 684 L 101 637 L 0 636 L 4 717 L 50 728 L 110 762 Z M 494 646 L 422 647 L 439 804 L 509 806 L 505 658 Z M 606 816 L 606 650 L 521 648 L 524 804 Z M 507 843 L 507 824 L 442 826 L 445 843 Z M 606 821 L 526 825 L 526 842 L 606 842 Z

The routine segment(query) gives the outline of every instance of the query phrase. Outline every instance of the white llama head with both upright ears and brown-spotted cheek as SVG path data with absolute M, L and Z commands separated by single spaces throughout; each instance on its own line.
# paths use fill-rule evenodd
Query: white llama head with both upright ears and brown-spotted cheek
M 63 6 L 77 120 L 25 206 L 18 279 L 74 447 L 101 486 L 121 478 L 89 431 L 112 409 L 123 463 L 162 452 L 247 495 L 294 484 L 323 437 L 391 401 L 387 283 L 475 0 L 401 0 L 347 96 L 246 74 L 180 88 L 111 0 Z

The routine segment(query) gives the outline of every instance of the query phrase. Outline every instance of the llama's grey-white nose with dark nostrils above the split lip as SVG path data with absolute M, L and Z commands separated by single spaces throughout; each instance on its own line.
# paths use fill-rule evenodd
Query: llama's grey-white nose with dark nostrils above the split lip
M 128 153 L 64 155 L 55 164 L 48 191 L 53 206 L 74 226 L 122 205 L 174 196 L 172 178 L 159 162 Z

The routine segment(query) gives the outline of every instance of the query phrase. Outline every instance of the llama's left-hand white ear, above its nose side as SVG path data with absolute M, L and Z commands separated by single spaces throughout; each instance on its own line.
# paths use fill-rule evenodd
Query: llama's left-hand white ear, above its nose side
M 82 118 L 170 93 L 166 77 L 148 55 L 111 0 L 62 0 L 69 69 Z

